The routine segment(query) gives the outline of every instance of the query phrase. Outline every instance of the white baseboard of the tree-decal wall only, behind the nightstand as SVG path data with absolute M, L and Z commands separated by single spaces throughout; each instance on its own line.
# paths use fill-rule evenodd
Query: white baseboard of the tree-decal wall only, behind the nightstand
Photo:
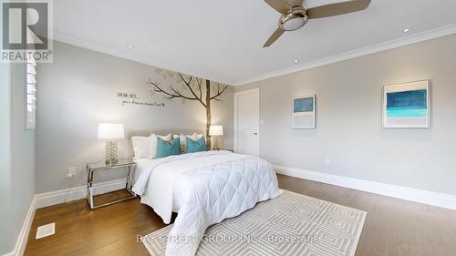
M 125 182 L 126 179 L 115 179 L 94 184 L 94 193 L 98 195 L 113 190 L 125 189 Z M 36 209 L 63 203 L 66 199 L 67 201 L 84 199 L 86 198 L 86 190 L 87 186 L 80 186 L 36 194 Z

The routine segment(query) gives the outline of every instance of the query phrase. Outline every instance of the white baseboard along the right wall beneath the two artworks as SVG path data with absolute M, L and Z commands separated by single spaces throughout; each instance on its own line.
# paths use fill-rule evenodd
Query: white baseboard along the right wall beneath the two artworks
M 339 187 L 358 189 L 375 193 L 378 195 L 389 196 L 401 200 L 410 200 L 438 206 L 446 209 L 456 210 L 456 196 L 432 192 L 421 189 L 412 189 L 365 179 L 354 179 L 343 176 L 327 174 L 306 169 L 296 169 L 285 166 L 274 166 L 275 171 L 279 174 L 292 176 L 300 179 L 309 179 L 313 181 L 323 182 L 326 184 L 336 185 Z

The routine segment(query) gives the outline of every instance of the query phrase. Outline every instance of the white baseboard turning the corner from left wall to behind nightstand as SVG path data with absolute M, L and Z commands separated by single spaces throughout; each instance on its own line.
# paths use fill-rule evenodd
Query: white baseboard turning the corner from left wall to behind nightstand
M 115 179 L 106 182 L 100 182 L 94 184 L 94 193 L 103 194 L 113 190 L 125 189 L 126 179 Z M 47 193 L 36 194 L 28 209 L 26 220 L 22 225 L 22 229 L 16 241 L 15 250 L 8 252 L 2 256 L 22 256 L 26 250 L 26 242 L 28 240 L 28 234 L 32 227 L 32 222 L 35 217 L 36 209 L 56 205 L 59 203 L 71 200 L 80 200 L 86 198 L 86 186 L 80 186 L 71 189 L 62 189 Z

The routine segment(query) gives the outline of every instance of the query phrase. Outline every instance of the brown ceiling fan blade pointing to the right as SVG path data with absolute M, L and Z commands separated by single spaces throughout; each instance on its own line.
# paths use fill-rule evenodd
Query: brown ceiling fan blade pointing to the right
M 309 18 L 323 18 L 335 15 L 345 15 L 348 13 L 358 12 L 368 8 L 370 0 L 350 0 L 346 2 L 321 5 L 306 10 Z

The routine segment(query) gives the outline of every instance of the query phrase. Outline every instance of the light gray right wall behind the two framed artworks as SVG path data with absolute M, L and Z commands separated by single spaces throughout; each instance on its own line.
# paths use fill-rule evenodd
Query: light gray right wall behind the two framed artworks
M 235 90 L 260 87 L 264 159 L 456 195 L 455 56 L 456 36 L 445 36 Z M 382 87 L 422 79 L 431 82 L 431 128 L 381 128 Z M 316 129 L 292 129 L 292 97 L 313 94 Z

